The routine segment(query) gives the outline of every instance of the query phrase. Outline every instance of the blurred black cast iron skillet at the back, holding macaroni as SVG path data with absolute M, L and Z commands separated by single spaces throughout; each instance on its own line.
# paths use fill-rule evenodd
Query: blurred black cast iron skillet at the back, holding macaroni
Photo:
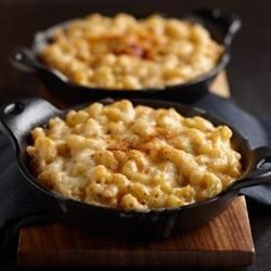
M 10 61 L 13 66 L 24 70 L 37 74 L 40 80 L 52 94 L 66 102 L 85 102 L 106 96 L 112 98 L 151 98 L 172 101 L 190 102 L 204 94 L 208 90 L 209 83 L 224 69 L 230 61 L 230 47 L 234 35 L 241 27 L 240 18 L 233 13 L 225 13 L 217 9 L 198 9 L 184 15 L 191 22 L 204 25 L 211 37 L 223 44 L 224 53 L 218 62 L 218 65 L 208 73 L 188 81 L 185 83 L 166 87 L 164 89 L 142 89 L 142 90 L 114 90 L 104 88 L 90 88 L 76 85 L 68 80 L 60 72 L 47 67 L 39 59 L 39 52 L 52 40 L 54 29 L 65 28 L 72 21 L 53 26 L 44 31 L 39 31 L 30 49 L 20 48 L 15 50 Z

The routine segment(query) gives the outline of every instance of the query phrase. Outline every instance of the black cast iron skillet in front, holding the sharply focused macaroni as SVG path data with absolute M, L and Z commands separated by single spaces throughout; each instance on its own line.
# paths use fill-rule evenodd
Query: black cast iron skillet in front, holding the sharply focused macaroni
M 155 100 L 131 100 L 133 104 L 152 107 L 173 107 L 184 116 L 201 115 L 215 125 L 224 125 L 222 120 L 208 113 L 186 105 Z M 108 104 L 113 100 L 101 100 Z M 76 106 L 76 108 L 82 106 Z M 243 157 L 244 173 L 219 195 L 184 207 L 151 209 L 147 212 L 89 205 L 66 198 L 40 184 L 28 166 L 26 145 L 29 132 L 36 126 L 48 122 L 52 116 L 63 116 L 60 111 L 41 99 L 21 99 L 0 108 L 0 124 L 16 152 L 16 162 L 24 180 L 41 204 L 52 210 L 59 219 L 90 229 L 100 229 L 104 233 L 137 237 L 167 237 L 185 230 L 199 227 L 223 211 L 244 188 L 271 183 L 271 150 L 259 147 L 251 150 L 249 143 L 235 129 L 233 144 Z M 91 227 L 90 227 L 91 225 Z

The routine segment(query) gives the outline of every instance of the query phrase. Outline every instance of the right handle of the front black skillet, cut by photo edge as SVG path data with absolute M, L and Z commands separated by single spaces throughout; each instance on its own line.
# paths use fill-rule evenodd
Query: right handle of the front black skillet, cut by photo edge
M 253 151 L 253 173 L 230 185 L 230 190 L 240 191 L 242 189 L 271 184 L 271 149 L 261 146 Z

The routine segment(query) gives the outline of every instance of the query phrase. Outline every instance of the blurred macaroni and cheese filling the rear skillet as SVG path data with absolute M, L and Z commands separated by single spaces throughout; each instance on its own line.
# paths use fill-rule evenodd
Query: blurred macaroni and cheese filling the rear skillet
M 222 52 L 199 24 L 120 13 L 73 21 L 40 57 L 76 83 L 136 90 L 192 80 L 214 68 Z

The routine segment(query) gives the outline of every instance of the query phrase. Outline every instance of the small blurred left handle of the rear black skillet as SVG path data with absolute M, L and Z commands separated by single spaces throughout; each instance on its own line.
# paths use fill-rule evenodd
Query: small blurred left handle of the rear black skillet
M 10 56 L 9 61 L 15 68 L 26 73 L 35 73 L 39 68 L 39 64 L 35 60 L 34 53 L 27 48 L 17 48 Z

